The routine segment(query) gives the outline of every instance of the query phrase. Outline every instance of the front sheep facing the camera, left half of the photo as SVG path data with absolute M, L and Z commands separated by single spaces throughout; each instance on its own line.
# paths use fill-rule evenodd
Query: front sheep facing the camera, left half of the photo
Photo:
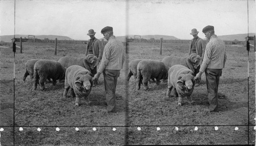
M 68 67 L 66 70 L 63 97 L 67 97 L 71 87 L 72 95 L 76 96 L 75 104 L 76 106 L 79 106 L 80 98 L 84 96 L 84 99 L 86 99 L 92 90 L 92 77 L 92 73 L 81 66 L 73 65 Z M 87 103 L 90 103 L 89 97 Z

